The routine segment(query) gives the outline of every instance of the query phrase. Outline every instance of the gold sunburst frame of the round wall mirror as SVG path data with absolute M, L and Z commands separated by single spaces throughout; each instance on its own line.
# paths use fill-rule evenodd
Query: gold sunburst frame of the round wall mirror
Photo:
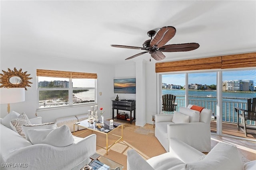
M 26 74 L 27 72 L 22 72 L 22 69 L 20 68 L 20 70 L 17 70 L 14 67 L 14 71 L 10 70 L 10 68 L 8 68 L 8 71 L 4 71 L 2 70 L 2 72 L 4 72 L 4 74 L 0 74 L 0 84 L 2 84 L 0 86 L 1 87 L 10 87 L 10 88 L 14 88 L 14 87 L 18 87 L 18 88 L 25 88 L 25 90 L 27 90 L 27 86 L 31 87 L 29 84 L 32 84 L 32 82 L 28 81 L 30 79 L 32 79 L 30 76 L 30 74 Z M 16 78 L 15 78 L 16 77 Z M 12 82 L 10 82 L 10 79 L 16 79 L 18 81 L 16 81 L 15 84 L 13 84 Z

